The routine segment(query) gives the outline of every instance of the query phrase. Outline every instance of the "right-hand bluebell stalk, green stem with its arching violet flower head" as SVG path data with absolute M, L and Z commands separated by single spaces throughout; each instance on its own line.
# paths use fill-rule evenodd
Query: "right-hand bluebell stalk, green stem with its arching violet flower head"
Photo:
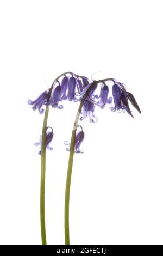
M 106 86 L 106 81 L 112 81 L 112 96 L 108 98 L 109 94 L 109 88 Z M 101 87 L 101 93 L 99 96 L 95 94 L 96 88 L 98 84 L 102 83 Z M 107 78 L 106 80 L 99 80 L 99 81 L 93 81 L 92 83 L 86 85 L 87 90 L 85 91 L 85 94 L 82 97 L 82 100 L 80 100 L 80 106 L 78 109 L 77 117 L 75 119 L 74 125 L 73 125 L 73 131 L 72 131 L 72 137 L 71 137 L 71 144 L 70 148 L 70 155 L 68 160 L 68 170 L 67 170 L 67 179 L 66 179 L 66 191 L 65 191 L 65 245 L 70 245 L 70 234 L 69 234 L 69 202 L 70 202 L 70 186 L 71 186 L 71 175 L 72 175 L 72 166 L 73 166 L 73 156 L 74 151 L 76 150 L 77 145 L 77 135 L 76 135 L 76 129 L 74 130 L 74 127 L 78 127 L 78 119 L 79 114 L 82 114 L 82 117 L 80 120 L 83 120 L 85 116 L 83 116 L 83 113 L 90 111 L 92 114 L 92 117 L 95 117 L 94 115 L 94 107 L 104 107 L 106 103 L 111 104 L 112 97 L 114 99 L 115 106 L 113 107 L 112 111 L 116 111 L 117 109 L 125 109 L 127 113 L 131 114 L 129 105 L 128 105 L 128 99 L 131 101 L 132 105 L 140 112 L 140 108 L 137 105 L 137 102 L 132 94 L 126 91 L 125 87 L 121 83 L 117 83 L 115 86 L 115 80 L 112 78 Z M 118 87 L 117 87 L 118 86 Z M 127 99 L 127 97 L 128 99 Z M 97 99 L 100 99 L 99 101 L 96 101 Z M 141 113 L 141 112 L 140 112 Z M 94 121 L 95 123 L 95 121 Z M 81 141 L 81 140 L 80 140 Z

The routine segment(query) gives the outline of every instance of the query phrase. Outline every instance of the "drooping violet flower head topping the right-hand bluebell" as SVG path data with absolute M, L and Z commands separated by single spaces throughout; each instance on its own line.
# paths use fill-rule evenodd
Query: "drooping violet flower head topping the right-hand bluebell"
M 109 85 L 107 84 L 108 82 Z M 109 90 L 109 87 L 111 87 L 111 90 Z M 137 111 L 141 113 L 133 94 L 126 90 L 126 86 L 123 83 L 117 82 L 114 78 L 99 80 L 97 82 L 93 81 L 92 84 L 89 83 L 86 85 L 86 89 L 86 100 L 82 108 L 82 117 L 80 117 L 80 120 L 88 117 L 91 122 L 96 123 L 95 107 L 104 108 L 107 104 L 112 104 L 112 99 L 114 100 L 114 106 L 110 107 L 111 111 L 121 110 L 133 117 L 129 107 L 129 100 Z

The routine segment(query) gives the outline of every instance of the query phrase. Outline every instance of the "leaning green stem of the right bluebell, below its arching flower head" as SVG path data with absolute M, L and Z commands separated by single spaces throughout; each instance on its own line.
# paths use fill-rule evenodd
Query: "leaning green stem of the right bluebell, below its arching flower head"
M 77 125 L 82 107 L 85 101 L 86 95 L 83 96 L 82 101 L 80 102 L 78 113 L 73 125 L 73 131 L 71 136 L 70 144 L 70 154 L 68 160 L 68 170 L 67 170 L 67 179 L 66 179 L 66 191 L 65 191 L 65 245 L 70 245 L 70 235 L 69 235 L 69 202 L 70 202 L 70 185 L 71 185 L 71 174 L 72 174 L 72 165 L 73 165 L 73 156 L 74 156 L 74 145 L 76 139 Z

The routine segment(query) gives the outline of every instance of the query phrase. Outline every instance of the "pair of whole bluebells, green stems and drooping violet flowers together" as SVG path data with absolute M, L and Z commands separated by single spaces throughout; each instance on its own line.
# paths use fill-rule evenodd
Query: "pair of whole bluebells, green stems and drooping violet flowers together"
M 46 227 L 45 227 L 45 170 L 46 170 L 46 149 L 52 150 L 51 142 L 54 137 L 53 129 L 47 126 L 49 107 L 62 109 L 65 100 L 79 102 L 78 113 L 73 125 L 71 143 L 66 148 L 69 153 L 66 191 L 65 191 L 65 245 L 70 245 L 69 235 L 69 202 L 70 185 L 73 166 L 73 156 L 75 153 L 83 153 L 80 150 L 85 133 L 83 127 L 78 121 L 89 119 L 91 123 L 97 122 L 95 108 L 108 107 L 113 112 L 127 112 L 131 117 L 133 113 L 130 110 L 129 102 L 141 113 L 139 106 L 133 94 L 128 92 L 127 87 L 115 80 L 106 78 L 98 81 L 91 81 L 85 76 L 79 76 L 72 72 L 66 72 L 58 76 L 52 83 L 51 88 L 43 92 L 36 100 L 28 100 L 28 104 L 35 111 L 38 109 L 40 114 L 44 115 L 42 136 L 40 141 L 35 143 L 40 147 L 41 155 L 41 190 L 40 190 L 40 220 L 41 220 L 41 238 L 42 245 L 46 245 Z M 45 108 L 45 109 L 44 109 Z M 77 132 L 78 130 L 78 132 Z

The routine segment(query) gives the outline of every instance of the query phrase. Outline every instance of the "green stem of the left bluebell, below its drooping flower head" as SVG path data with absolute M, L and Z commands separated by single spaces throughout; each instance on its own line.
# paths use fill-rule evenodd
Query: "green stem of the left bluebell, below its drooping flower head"
M 40 220 L 41 220 L 41 239 L 42 245 L 46 245 L 46 228 L 45 228 L 45 170 L 46 170 L 46 130 L 49 107 L 45 109 L 45 115 L 42 127 L 41 143 L 41 190 L 40 190 Z

